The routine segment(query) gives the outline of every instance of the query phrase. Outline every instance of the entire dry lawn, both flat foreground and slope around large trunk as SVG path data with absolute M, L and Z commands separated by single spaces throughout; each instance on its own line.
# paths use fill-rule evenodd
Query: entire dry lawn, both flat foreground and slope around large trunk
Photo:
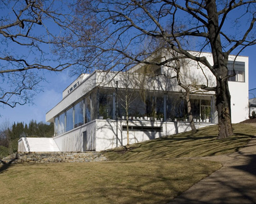
M 256 133 L 248 124 L 233 127 L 225 140 L 210 126 L 105 153 L 117 161 L 0 166 L 0 203 L 166 203 L 221 168 L 184 157 L 230 153 Z

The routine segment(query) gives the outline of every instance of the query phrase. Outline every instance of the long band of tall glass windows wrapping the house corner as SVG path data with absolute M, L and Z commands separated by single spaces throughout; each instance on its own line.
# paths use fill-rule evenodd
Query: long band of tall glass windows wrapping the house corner
M 211 98 L 210 96 L 191 96 L 193 117 L 198 121 L 206 119 L 212 121 Z M 187 119 L 186 100 L 179 93 L 138 90 L 126 90 L 125 92 L 119 89 L 117 101 L 117 113 L 121 119 L 126 116 L 126 108 L 129 119 L 167 121 Z M 95 119 L 115 119 L 115 107 L 115 89 L 98 89 L 54 118 L 55 136 Z

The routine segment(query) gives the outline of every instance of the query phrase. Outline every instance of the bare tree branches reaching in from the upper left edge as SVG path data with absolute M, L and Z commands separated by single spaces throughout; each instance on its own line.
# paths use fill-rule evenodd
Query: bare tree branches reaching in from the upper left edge
M 61 71 L 74 64 L 53 54 L 63 31 L 69 30 L 67 9 L 54 0 L 1 1 L 0 104 L 13 108 L 28 103 L 35 94 L 31 90 L 39 91 L 44 80 L 39 70 Z

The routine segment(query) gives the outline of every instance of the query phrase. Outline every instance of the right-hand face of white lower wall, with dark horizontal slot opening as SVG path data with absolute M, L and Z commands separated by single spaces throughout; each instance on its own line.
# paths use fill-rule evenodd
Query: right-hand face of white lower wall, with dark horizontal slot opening
M 126 125 L 125 120 L 118 121 L 118 145 L 127 144 L 127 132 L 121 131 L 122 126 Z M 188 122 L 164 122 L 164 121 L 139 121 L 131 120 L 129 125 L 138 126 L 162 126 L 162 132 L 150 131 L 129 131 L 130 144 L 161 138 L 176 133 L 190 131 Z M 212 125 L 212 123 L 196 122 L 197 129 Z M 104 150 L 116 147 L 116 120 L 97 120 L 96 125 L 96 150 Z

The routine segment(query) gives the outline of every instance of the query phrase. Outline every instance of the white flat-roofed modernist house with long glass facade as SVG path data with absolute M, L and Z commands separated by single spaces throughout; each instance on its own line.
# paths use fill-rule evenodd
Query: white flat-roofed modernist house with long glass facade
M 210 53 L 198 55 L 212 59 Z M 156 58 L 163 60 L 163 54 Z M 248 57 L 239 56 L 233 61 L 234 56 L 230 56 L 228 69 L 232 73 L 234 67 L 236 75 L 228 83 L 231 120 L 237 123 L 248 118 Z M 171 64 L 139 64 L 126 72 L 81 74 L 46 114 L 46 121 L 55 124 L 54 137 L 48 142 L 54 142 L 54 148 L 47 151 L 99 151 L 126 145 L 127 129 L 130 143 L 189 131 L 184 90 L 175 75 Z M 191 90 L 196 127 L 216 124 L 215 93 L 199 88 L 202 84 L 215 86 L 212 73 L 203 65 L 186 60 L 180 76 Z M 29 140 L 20 139 L 19 150 L 28 151 Z

